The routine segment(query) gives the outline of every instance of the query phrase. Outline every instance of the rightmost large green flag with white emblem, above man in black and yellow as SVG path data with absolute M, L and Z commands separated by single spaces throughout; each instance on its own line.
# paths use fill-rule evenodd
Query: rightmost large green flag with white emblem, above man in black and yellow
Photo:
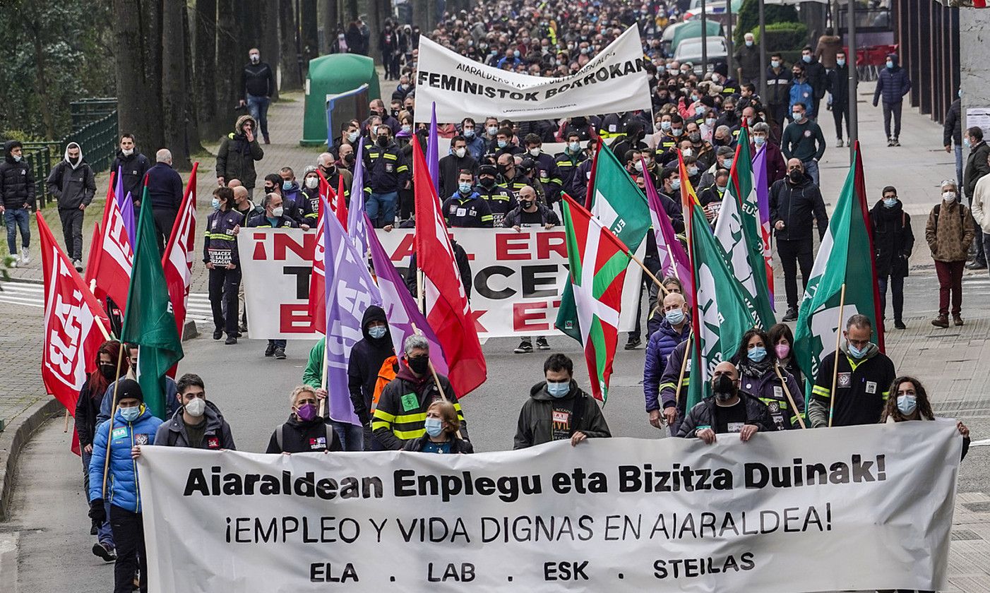
M 855 156 L 842 185 L 829 230 L 819 247 L 818 257 L 805 286 L 794 332 L 794 351 L 801 372 L 808 377 L 808 393 L 818 376 L 819 363 L 836 349 L 836 340 L 845 321 L 862 314 L 870 319 L 877 346 L 883 351 L 883 328 L 877 323 L 879 293 L 873 267 L 869 206 L 863 180 L 862 154 L 856 143 Z M 845 303 L 840 307 L 842 285 Z M 841 308 L 842 319 L 839 318 Z

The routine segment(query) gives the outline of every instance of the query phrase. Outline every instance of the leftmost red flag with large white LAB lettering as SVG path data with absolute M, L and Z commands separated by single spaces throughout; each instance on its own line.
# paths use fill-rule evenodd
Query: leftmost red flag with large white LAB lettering
M 45 273 L 42 381 L 45 390 L 74 416 L 86 373 L 96 370 L 96 351 L 110 340 L 110 320 L 58 247 L 42 213 L 35 216 Z M 72 444 L 78 454 L 77 437 L 73 436 Z

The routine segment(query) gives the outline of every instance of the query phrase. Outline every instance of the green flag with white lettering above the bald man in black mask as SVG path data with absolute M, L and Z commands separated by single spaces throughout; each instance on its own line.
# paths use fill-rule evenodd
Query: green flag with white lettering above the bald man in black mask
M 690 219 L 688 247 L 698 306 L 692 312 L 694 332 L 687 410 L 711 395 L 715 366 L 729 360 L 739 349 L 743 334 L 759 325 L 755 305 L 729 269 L 726 253 L 712 235 L 705 213 L 697 203 L 691 205 Z

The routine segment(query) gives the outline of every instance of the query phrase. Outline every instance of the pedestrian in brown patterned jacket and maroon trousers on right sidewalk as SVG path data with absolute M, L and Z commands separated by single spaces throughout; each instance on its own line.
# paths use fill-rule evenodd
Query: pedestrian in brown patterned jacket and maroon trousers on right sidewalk
M 948 327 L 951 296 L 952 323 L 961 326 L 962 266 L 966 262 L 966 249 L 973 241 L 973 225 L 969 209 L 959 203 L 955 181 L 941 182 L 941 202 L 929 214 L 925 240 L 932 249 L 939 274 L 939 316 L 932 320 L 932 325 Z

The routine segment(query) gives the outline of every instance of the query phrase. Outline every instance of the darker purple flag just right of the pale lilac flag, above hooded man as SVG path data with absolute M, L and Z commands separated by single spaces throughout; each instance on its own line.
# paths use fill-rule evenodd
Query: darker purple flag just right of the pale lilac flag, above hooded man
M 370 222 L 368 224 L 370 225 Z M 433 361 L 434 368 L 439 374 L 446 375 L 448 368 L 444 359 L 444 348 L 440 346 L 433 328 L 427 323 L 423 312 L 417 308 L 413 295 L 409 294 L 405 282 L 399 276 L 399 271 L 388 258 L 385 248 L 381 247 L 378 236 L 372 231 L 368 234 L 368 239 L 374 273 L 378 278 L 378 290 L 381 291 L 382 308 L 388 319 L 388 331 L 392 335 L 392 345 L 395 346 L 396 353 L 401 355 L 406 337 L 416 334 L 416 330 L 419 330 L 419 334 L 430 343 L 430 360 Z

